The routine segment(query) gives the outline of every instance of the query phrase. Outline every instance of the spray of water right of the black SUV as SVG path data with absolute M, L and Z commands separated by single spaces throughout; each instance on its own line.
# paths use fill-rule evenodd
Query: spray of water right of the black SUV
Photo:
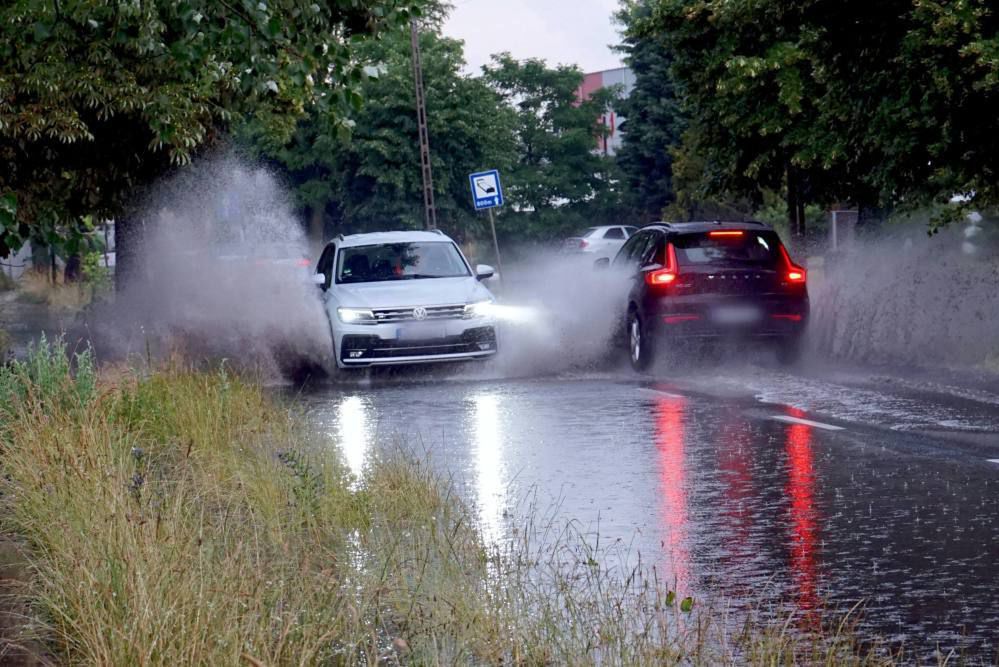
M 980 364 L 999 354 L 999 261 L 960 229 L 863 238 L 812 288 L 813 347 L 862 362 Z

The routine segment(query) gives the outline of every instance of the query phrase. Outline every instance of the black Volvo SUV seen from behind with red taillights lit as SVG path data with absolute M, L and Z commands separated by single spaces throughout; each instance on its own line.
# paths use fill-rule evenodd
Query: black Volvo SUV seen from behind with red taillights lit
M 687 339 L 770 341 L 782 362 L 798 358 L 809 312 L 805 269 L 763 223 L 653 223 L 611 266 L 631 280 L 625 340 L 637 370 L 652 363 L 657 345 Z

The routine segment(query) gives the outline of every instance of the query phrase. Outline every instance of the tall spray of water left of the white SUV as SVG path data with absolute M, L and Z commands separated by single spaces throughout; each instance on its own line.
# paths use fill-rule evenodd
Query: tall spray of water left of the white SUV
M 179 350 L 281 377 L 330 358 L 307 247 L 286 191 L 231 155 L 163 183 L 138 216 L 138 270 L 89 318 L 105 355 Z

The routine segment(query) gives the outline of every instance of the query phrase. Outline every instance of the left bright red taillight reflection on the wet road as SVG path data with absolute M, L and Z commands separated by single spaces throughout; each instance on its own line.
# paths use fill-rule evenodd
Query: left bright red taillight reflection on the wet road
M 689 512 L 687 507 L 687 462 L 684 440 L 686 399 L 663 396 L 656 402 L 656 451 L 662 488 L 662 513 L 669 560 L 667 583 L 680 595 L 690 591 Z

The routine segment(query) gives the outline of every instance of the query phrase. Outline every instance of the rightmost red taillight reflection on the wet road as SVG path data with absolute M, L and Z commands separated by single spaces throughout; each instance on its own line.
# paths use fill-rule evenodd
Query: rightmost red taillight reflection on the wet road
M 800 410 L 795 409 L 790 409 L 788 414 L 792 417 L 803 416 Z M 797 589 L 798 608 L 810 612 L 819 606 L 819 531 L 815 509 L 812 427 L 806 424 L 789 424 L 786 427 L 784 448 L 788 460 L 785 493 L 790 500 L 791 576 Z

